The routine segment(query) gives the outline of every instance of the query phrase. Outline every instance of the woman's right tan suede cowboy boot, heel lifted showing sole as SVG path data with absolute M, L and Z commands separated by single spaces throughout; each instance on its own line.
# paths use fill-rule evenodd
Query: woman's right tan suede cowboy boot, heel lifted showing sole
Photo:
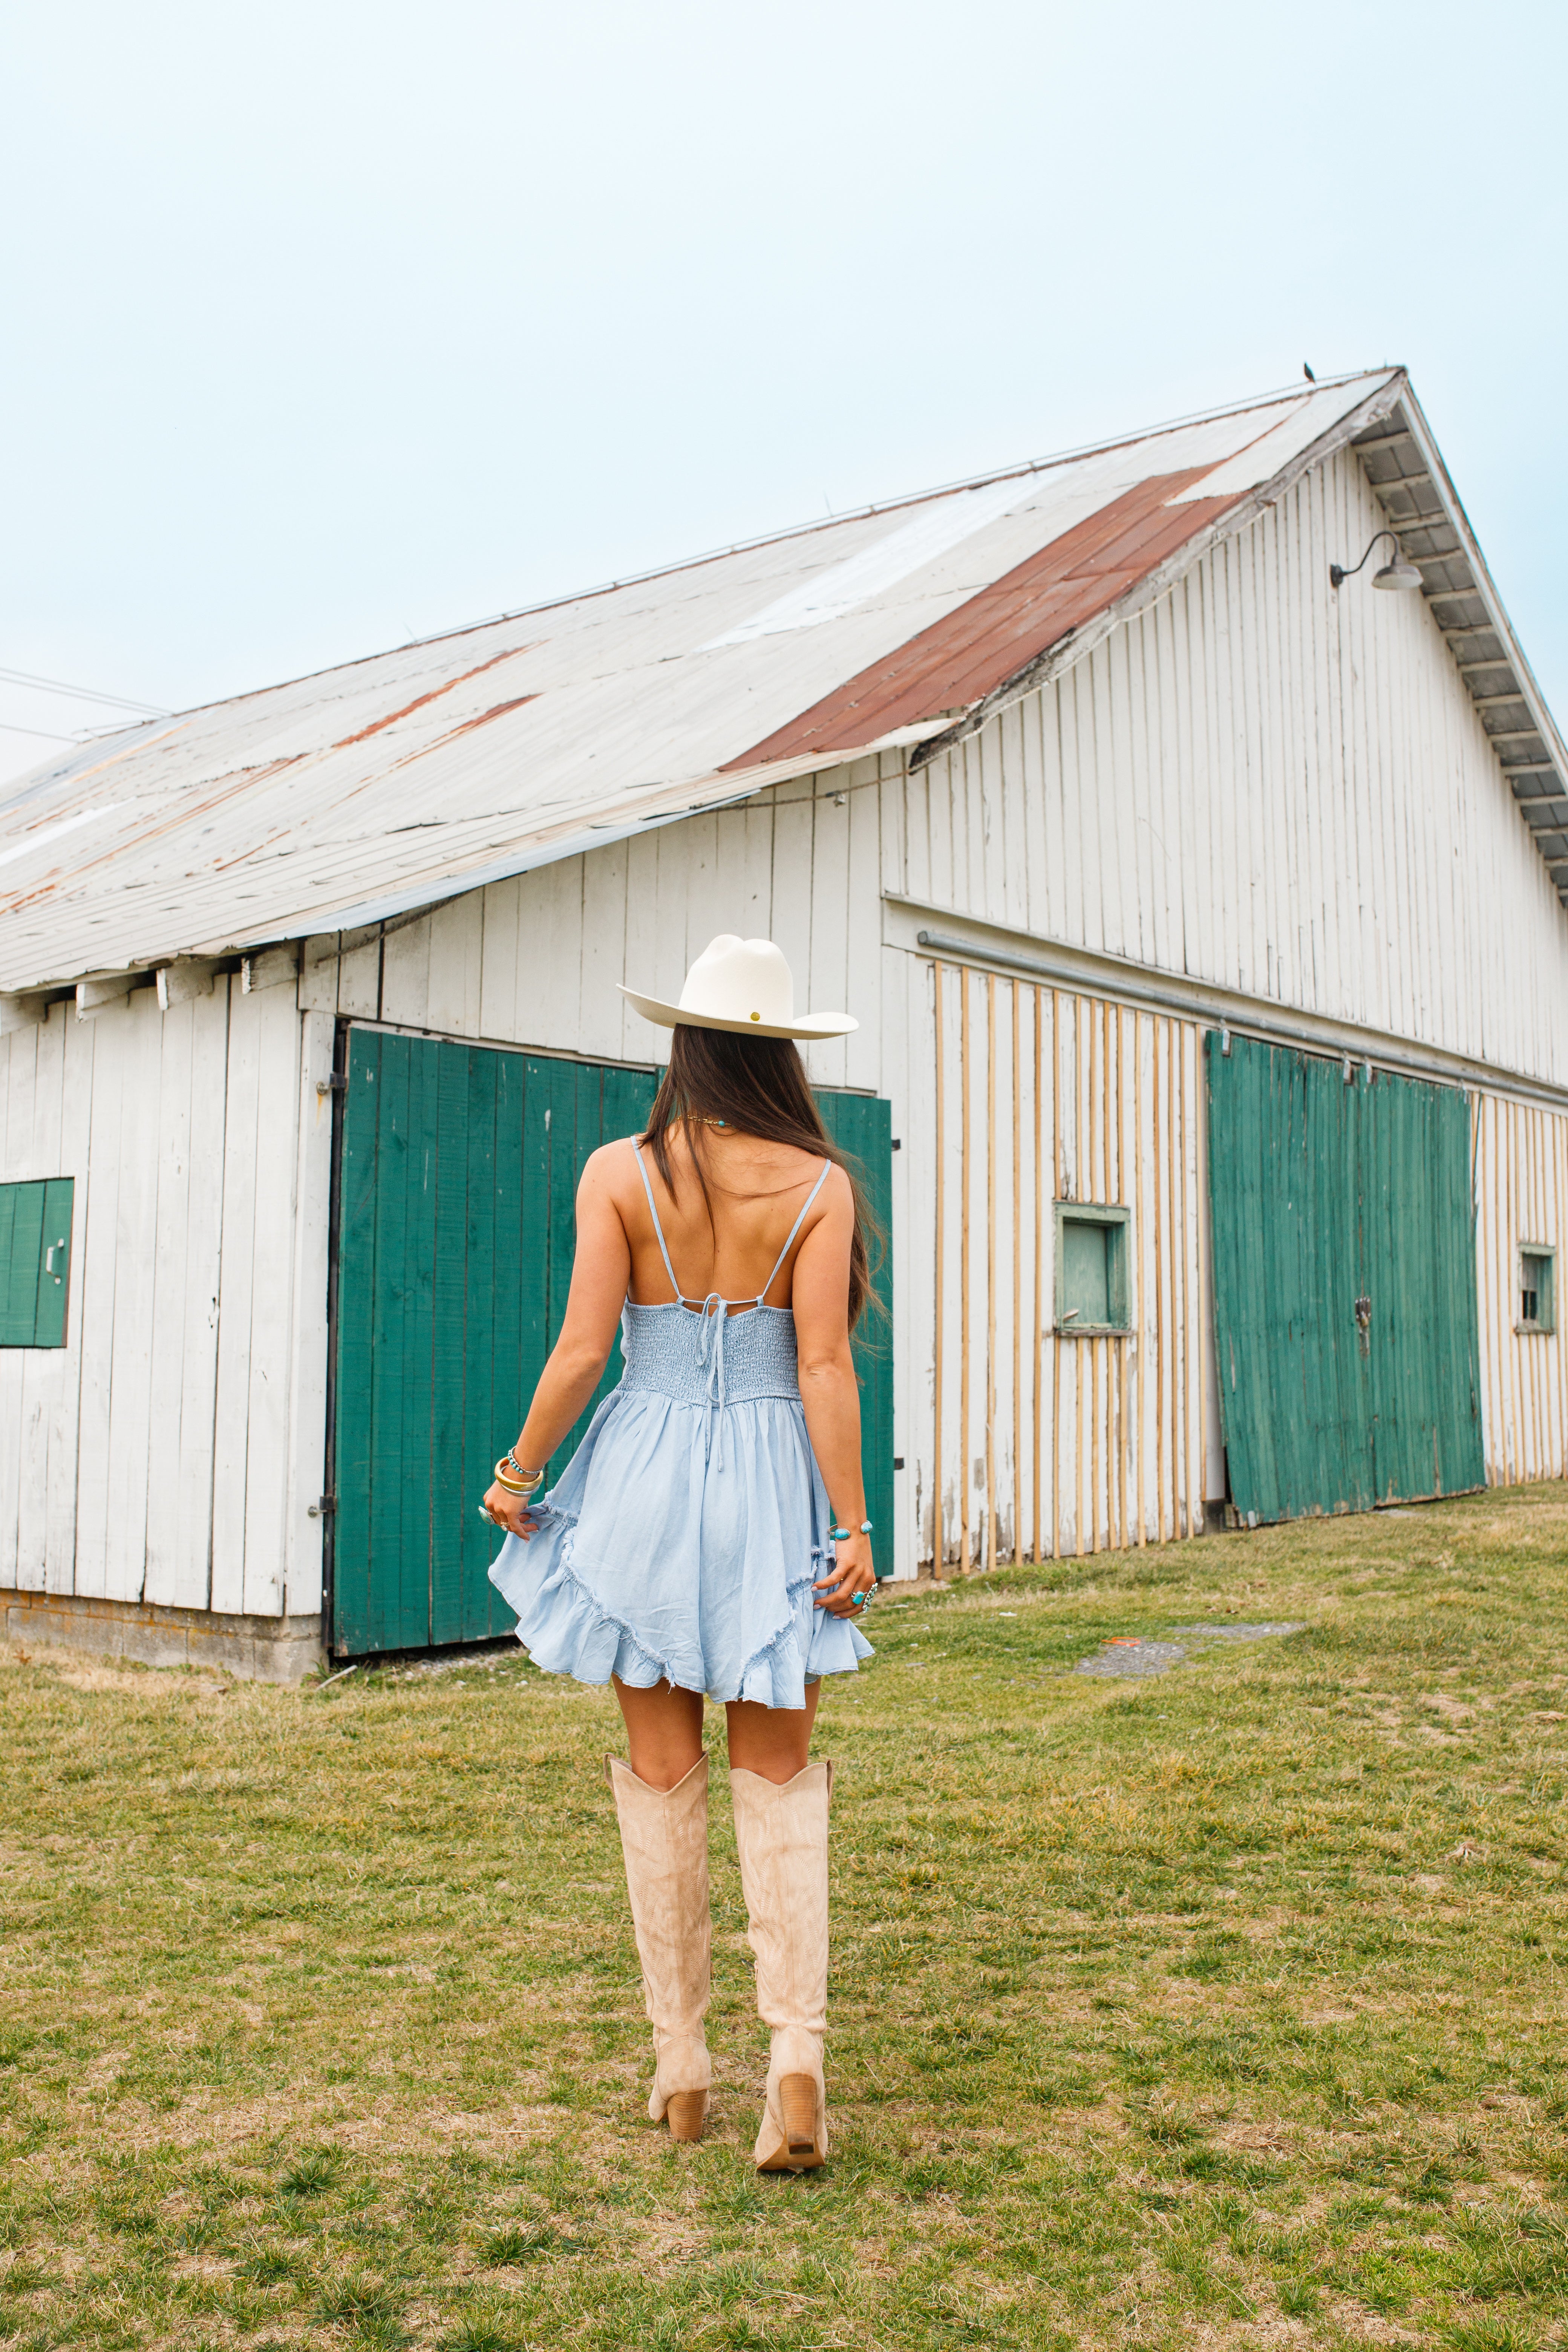
M 804 2173 L 827 2157 L 827 1802 L 832 1764 L 778 1788 L 731 1766 L 741 1884 L 757 1955 L 757 2016 L 773 2027 L 757 2133 L 759 2173 Z

